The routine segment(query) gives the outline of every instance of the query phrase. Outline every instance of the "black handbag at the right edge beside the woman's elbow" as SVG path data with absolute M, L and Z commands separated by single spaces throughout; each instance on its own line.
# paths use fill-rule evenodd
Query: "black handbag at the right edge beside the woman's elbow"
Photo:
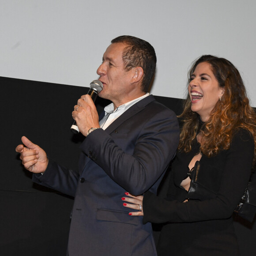
M 251 174 L 245 193 L 238 203 L 234 213 L 252 222 L 256 214 L 256 172 Z

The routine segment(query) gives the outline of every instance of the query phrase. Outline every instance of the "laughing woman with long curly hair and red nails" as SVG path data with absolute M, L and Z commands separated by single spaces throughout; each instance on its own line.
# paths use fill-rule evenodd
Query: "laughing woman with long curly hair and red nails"
M 165 223 L 158 256 L 238 256 L 232 214 L 256 159 L 256 114 L 230 61 L 204 55 L 188 75 L 166 198 L 127 192 L 122 200 L 144 223 Z

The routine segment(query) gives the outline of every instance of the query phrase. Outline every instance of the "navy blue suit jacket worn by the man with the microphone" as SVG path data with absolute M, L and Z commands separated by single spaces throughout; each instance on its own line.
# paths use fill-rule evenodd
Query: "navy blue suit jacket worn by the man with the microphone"
M 33 180 L 75 196 L 69 256 L 155 256 L 151 223 L 128 215 L 128 191 L 156 193 L 179 141 L 177 117 L 152 95 L 81 144 L 79 173 L 49 161 Z

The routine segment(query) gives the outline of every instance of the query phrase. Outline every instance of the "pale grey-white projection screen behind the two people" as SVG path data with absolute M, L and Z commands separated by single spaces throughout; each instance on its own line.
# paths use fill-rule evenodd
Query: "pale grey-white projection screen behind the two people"
M 143 38 L 158 62 L 151 94 L 184 98 L 193 60 L 241 72 L 256 107 L 255 0 L 1 0 L 0 76 L 89 87 L 111 39 Z

